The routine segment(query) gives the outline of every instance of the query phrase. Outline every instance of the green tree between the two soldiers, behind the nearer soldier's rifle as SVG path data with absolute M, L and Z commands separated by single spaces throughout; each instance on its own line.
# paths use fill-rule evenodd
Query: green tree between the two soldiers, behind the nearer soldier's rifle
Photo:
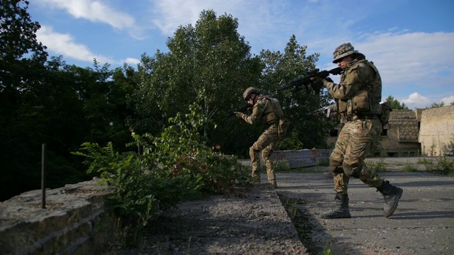
M 300 91 L 287 89 L 277 94 L 275 92 L 282 86 L 279 85 L 281 81 L 288 83 L 307 76 L 315 69 L 319 53 L 308 55 L 306 50 L 307 46 L 299 45 L 295 35 L 292 35 L 283 54 L 270 50 L 260 52 L 260 58 L 265 63 L 261 79 L 262 89 L 267 94 L 275 94 L 284 114 L 292 121 L 281 149 L 326 147 L 326 136 L 335 125 L 333 120 L 311 115 L 314 110 L 329 104 L 331 99 L 326 91 L 318 94 L 311 89 L 302 88 Z

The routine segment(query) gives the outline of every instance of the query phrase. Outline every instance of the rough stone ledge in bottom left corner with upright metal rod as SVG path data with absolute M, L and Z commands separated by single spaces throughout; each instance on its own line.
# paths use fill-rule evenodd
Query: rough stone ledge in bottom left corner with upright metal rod
M 28 191 L 0 204 L 0 254 L 98 254 L 118 238 L 121 222 L 97 181 Z

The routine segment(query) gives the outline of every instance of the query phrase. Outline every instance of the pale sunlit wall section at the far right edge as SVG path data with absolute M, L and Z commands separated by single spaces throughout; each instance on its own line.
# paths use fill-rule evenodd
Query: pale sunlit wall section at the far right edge
M 454 106 L 424 110 L 419 142 L 424 155 L 452 155 L 454 149 Z

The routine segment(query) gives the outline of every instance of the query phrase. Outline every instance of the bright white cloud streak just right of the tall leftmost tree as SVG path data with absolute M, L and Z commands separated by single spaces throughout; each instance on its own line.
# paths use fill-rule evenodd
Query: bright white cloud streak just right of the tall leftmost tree
M 49 26 L 41 26 L 40 30 L 36 32 L 36 37 L 38 41 L 43 42 L 43 45 L 48 47 L 48 50 L 57 53 L 57 55 L 86 62 L 93 62 L 95 58 L 100 63 L 112 62 L 108 57 L 96 55 L 87 46 L 74 42 L 71 35 L 55 33 Z

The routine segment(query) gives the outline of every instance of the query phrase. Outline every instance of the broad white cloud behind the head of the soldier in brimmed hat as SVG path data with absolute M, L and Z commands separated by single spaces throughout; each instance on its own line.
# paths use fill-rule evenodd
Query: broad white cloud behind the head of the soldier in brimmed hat
M 355 47 L 380 70 L 385 85 L 445 84 L 438 74 L 452 74 L 454 33 L 381 33 Z

